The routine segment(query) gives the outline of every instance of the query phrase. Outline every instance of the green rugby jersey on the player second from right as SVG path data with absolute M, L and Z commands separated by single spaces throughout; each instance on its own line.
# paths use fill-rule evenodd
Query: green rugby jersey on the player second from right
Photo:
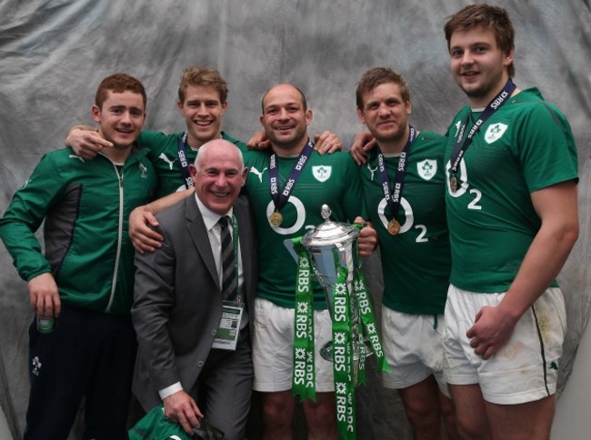
M 411 145 L 405 186 L 396 219 L 399 234 L 386 226 L 393 217 L 386 205 L 378 165 L 378 151 L 360 167 L 366 207 L 376 228 L 384 273 L 386 307 L 412 315 L 444 312 L 451 269 L 446 222 L 444 153 L 446 138 L 421 132 Z M 389 181 L 394 182 L 398 155 L 385 156 Z M 392 185 L 390 188 L 392 188 Z

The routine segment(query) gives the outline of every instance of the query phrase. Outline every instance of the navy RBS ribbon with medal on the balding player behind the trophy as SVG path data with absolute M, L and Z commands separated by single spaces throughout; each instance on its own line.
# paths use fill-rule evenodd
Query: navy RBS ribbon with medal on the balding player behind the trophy
M 289 196 L 294 190 L 297 179 L 302 174 L 304 167 L 307 164 L 308 158 L 314 152 L 314 145 L 308 139 L 308 142 L 300 155 L 297 157 L 292 170 L 289 172 L 289 177 L 285 182 L 283 190 L 279 190 L 279 168 L 277 166 L 277 156 L 275 153 L 269 158 L 269 190 L 271 192 L 271 199 L 275 205 L 275 211 L 269 215 L 269 222 L 273 226 L 279 226 L 283 222 L 283 215 L 279 211 L 287 204 Z

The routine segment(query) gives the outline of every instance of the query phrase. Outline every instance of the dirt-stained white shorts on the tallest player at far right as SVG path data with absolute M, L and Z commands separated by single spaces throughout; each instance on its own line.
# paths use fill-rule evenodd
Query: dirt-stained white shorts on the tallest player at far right
M 478 384 L 486 402 L 516 405 L 556 393 L 558 361 L 566 333 L 565 303 L 557 287 L 544 292 L 517 321 L 510 339 L 493 357 L 474 353 L 466 331 L 478 311 L 496 306 L 501 294 L 449 286 L 446 303 L 444 377 L 450 385 Z

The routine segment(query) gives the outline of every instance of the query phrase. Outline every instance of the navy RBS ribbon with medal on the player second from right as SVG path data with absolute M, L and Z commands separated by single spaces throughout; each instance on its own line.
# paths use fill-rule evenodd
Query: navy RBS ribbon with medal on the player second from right
M 387 230 L 392 235 L 396 235 L 400 231 L 400 223 L 398 223 L 396 220 L 396 213 L 398 212 L 400 202 L 402 201 L 402 190 L 405 187 L 406 168 L 408 167 L 408 157 L 410 156 L 410 145 L 412 145 L 416 139 L 415 127 L 412 125 L 408 126 L 410 127 L 410 132 L 408 133 L 408 139 L 406 140 L 405 148 L 398 158 L 398 167 L 396 169 L 394 187 L 392 189 L 390 189 L 390 177 L 388 176 L 386 161 L 384 160 L 384 155 L 379 150 L 378 146 L 379 153 L 377 154 L 377 163 L 380 170 L 382 189 L 384 190 L 386 204 L 390 208 L 390 213 L 392 213 L 393 217 L 390 221 L 388 221 Z

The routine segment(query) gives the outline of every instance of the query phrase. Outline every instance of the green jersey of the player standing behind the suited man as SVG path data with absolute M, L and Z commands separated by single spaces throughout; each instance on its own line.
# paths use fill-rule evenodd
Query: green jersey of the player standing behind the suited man
M 144 148 L 148 148 L 148 157 L 155 167 L 156 175 L 160 182 L 156 198 L 164 197 L 175 191 L 184 190 L 185 179 L 181 173 L 181 167 L 178 160 L 178 144 L 183 138 L 185 132 L 165 135 L 159 132 L 142 131 L 137 138 L 137 143 Z M 235 138 L 222 132 L 222 139 L 236 145 L 243 152 L 246 145 Z M 189 145 L 185 145 L 186 161 L 188 164 L 195 162 L 197 156 L 196 150 Z

